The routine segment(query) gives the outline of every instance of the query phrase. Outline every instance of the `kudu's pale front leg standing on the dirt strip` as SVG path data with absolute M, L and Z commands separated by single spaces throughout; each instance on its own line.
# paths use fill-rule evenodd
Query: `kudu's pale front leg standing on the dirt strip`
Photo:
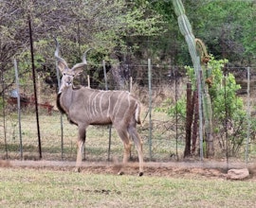
M 77 162 L 76 162 L 76 171 L 81 171 L 82 165 L 82 152 L 84 149 L 85 137 L 86 137 L 85 128 L 79 128 L 79 138 L 78 138 L 78 153 L 77 153 Z

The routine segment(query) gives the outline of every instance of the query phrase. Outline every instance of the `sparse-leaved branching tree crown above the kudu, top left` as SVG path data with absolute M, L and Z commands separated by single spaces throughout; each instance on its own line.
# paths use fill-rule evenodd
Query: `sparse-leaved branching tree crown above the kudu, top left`
M 121 0 L 3 0 L 0 4 L 2 72 L 11 69 L 14 56 L 27 59 L 27 16 L 32 21 L 36 54 L 51 64 L 53 36 L 61 39 L 62 53 L 68 62 L 80 61 L 82 51 L 90 46 L 95 49 L 96 64 L 101 64 L 99 58 L 108 61 L 111 56 L 117 58 L 117 52 L 121 59 L 116 61 L 122 61 L 128 49 L 137 47 L 136 43 L 127 44 L 130 38 L 161 32 L 159 15 Z

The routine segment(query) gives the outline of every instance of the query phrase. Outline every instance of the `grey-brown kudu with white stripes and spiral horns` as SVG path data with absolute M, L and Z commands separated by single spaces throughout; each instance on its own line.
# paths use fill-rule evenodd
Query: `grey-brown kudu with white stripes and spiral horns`
M 56 41 L 54 55 L 63 76 L 57 96 L 57 106 L 61 113 L 66 114 L 70 123 L 78 126 L 76 169 L 80 171 L 82 165 L 86 128 L 89 125 L 112 124 L 118 131 L 124 145 L 123 165 L 127 163 L 131 149 L 130 135 L 137 147 L 139 176 L 142 176 L 142 144 L 136 129 L 137 124 L 140 124 L 140 104 L 133 95 L 126 91 L 101 91 L 86 87 L 75 88 L 73 78 L 77 77 L 87 64 L 86 52 L 82 56 L 82 62 L 75 64 L 70 69 L 66 61 L 59 56 L 59 43 Z M 121 170 L 119 174 L 122 174 Z

